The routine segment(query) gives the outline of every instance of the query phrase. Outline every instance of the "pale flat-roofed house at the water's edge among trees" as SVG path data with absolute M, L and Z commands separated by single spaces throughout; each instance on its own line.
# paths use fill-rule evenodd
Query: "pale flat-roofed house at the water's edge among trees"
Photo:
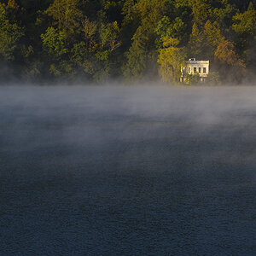
M 196 61 L 195 58 L 187 61 L 186 67 L 181 70 L 181 82 L 188 83 L 188 75 L 198 74 L 201 83 L 204 83 L 209 74 L 210 61 Z

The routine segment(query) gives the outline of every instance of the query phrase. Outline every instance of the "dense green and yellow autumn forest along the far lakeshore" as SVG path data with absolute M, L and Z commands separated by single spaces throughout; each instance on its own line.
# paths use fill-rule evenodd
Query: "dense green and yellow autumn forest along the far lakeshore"
M 0 82 L 252 81 L 256 0 L 0 0 Z M 190 79 L 196 83 L 195 79 Z

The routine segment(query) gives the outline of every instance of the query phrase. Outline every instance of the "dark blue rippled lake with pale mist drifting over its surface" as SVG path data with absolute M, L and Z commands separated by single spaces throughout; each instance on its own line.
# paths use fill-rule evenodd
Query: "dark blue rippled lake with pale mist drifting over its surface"
M 2 87 L 0 254 L 253 255 L 256 88 Z

